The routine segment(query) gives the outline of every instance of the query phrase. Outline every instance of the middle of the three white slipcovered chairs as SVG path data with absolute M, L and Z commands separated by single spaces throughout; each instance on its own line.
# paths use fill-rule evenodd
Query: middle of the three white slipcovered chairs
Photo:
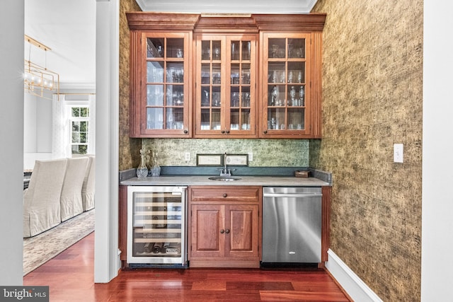
M 60 197 L 62 221 L 66 221 L 84 211 L 81 192 L 87 164 L 88 157 L 67 158 L 66 175 L 64 175 Z

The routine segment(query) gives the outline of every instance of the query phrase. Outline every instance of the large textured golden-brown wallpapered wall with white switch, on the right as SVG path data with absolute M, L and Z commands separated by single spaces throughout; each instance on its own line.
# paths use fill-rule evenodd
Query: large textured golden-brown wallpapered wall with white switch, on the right
M 420 301 L 423 1 L 319 0 L 331 250 L 384 301 Z M 404 163 L 393 145 L 404 144 Z

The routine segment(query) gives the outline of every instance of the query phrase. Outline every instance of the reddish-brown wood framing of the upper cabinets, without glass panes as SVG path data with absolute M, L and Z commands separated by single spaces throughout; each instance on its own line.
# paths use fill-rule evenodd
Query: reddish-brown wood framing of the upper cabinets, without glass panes
M 321 48 L 322 48 L 322 30 L 326 20 L 325 13 L 309 14 L 193 14 L 193 13 L 149 13 L 149 12 L 131 12 L 127 14 L 127 21 L 130 27 L 130 137 L 206 137 L 206 138 L 291 138 L 291 139 L 309 139 L 321 138 Z M 170 129 L 148 130 L 144 125 L 143 98 L 146 97 L 142 87 L 142 35 L 145 33 L 187 33 L 188 50 L 185 51 L 188 59 L 188 79 L 185 83 L 188 85 L 190 93 L 188 98 L 188 107 L 185 108 L 184 115 L 188 117 L 188 124 L 184 126 L 184 131 L 175 131 Z M 263 69 L 263 52 L 258 51 L 263 48 L 264 33 L 281 33 L 282 36 L 294 33 L 306 33 L 310 35 L 310 62 L 309 78 L 310 93 L 306 95 L 309 98 L 309 112 L 306 113 L 306 125 L 304 132 L 295 130 L 265 132 L 267 121 L 260 120 L 263 117 L 263 110 L 266 110 L 265 102 L 267 95 L 263 95 L 263 86 L 267 85 Z M 251 110 L 254 115 L 253 127 L 254 132 L 229 133 L 225 135 L 219 133 L 204 133 L 200 129 L 195 129 L 197 122 L 197 98 L 195 91 L 195 62 L 196 44 L 195 36 L 197 35 L 256 35 L 256 110 Z M 259 53 L 259 54 L 258 54 Z M 185 71 L 186 72 L 186 71 Z M 266 99 L 266 100 L 265 100 Z M 144 131 L 145 129 L 145 131 Z M 198 130 L 198 131 L 197 131 Z M 198 132 L 198 133 L 197 133 Z

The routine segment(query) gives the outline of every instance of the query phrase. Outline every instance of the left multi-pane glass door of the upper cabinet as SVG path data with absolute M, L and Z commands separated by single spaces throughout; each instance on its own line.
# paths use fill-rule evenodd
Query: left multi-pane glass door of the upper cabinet
M 146 47 L 144 129 L 188 133 L 188 42 L 185 34 L 144 34 Z M 142 127 L 143 127 L 142 126 Z

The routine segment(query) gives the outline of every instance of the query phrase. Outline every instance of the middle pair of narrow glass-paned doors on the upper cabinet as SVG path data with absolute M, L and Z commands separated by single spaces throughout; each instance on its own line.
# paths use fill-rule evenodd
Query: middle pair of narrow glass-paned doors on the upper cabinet
M 256 137 L 256 35 L 198 35 L 196 137 Z

